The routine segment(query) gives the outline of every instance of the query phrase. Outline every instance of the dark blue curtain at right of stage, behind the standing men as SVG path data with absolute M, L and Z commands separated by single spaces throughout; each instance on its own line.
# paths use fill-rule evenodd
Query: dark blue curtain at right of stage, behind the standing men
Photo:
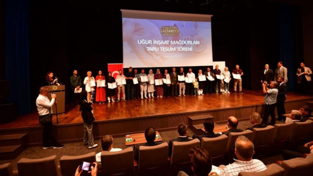
M 288 69 L 288 91 L 295 91 L 296 69 L 303 60 L 301 8 L 279 4 L 279 50 L 280 59 Z

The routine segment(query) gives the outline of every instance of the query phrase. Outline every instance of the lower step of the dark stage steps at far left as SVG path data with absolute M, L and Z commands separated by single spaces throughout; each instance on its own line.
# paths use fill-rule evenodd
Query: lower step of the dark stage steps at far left
M 21 145 L 11 145 L 0 147 L 0 158 L 1 160 L 10 160 L 16 158 L 19 154 L 23 152 L 23 147 Z

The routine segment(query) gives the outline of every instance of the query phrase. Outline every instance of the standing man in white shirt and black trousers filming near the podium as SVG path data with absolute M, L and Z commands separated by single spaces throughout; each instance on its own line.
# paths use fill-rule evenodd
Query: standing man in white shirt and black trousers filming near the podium
M 64 145 L 63 144 L 59 144 L 59 142 L 56 139 L 56 133 L 55 133 L 55 129 L 52 123 L 52 119 L 51 119 L 51 113 L 52 113 L 52 109 L 51 107 L 55 104 L 55 98 L 56 95 L 52 94 L 51 97 L 51 101 L 49 100 L 49 98 L 47 97 L 49 90 L 48 87 L 40 87 L 39 90 L 39 95 L 36 99 L 36 106 L 37 106 L 37 110 L 38 110 L 38 114 L 39 114 L 39 122 L 40 119 L 43 118 L 50 118 L 50 121 L 46 122 L 46 123 L 40 123 L 42 126 L 44 126 L 44 130 L 42 133 L 42 141 L 43 141 L 43 148 L 47 149 L 47 148 L 63 148 Z M 49 142 L 49 140 L 51 141 L 51 143 Z

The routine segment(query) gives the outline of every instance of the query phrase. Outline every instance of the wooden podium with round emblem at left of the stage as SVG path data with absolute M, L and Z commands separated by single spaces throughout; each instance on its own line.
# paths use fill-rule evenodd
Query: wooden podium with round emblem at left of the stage
M 55 105 L 52 106 L 52 115 L 64 114 L 65 113 L 65 85 L 50 85 L 47 86 L 49 90 L 49 94 L 47 97 L 51 100 L 51 92 L 53 92 L 57 97 L 55 100 L 57 101 L 57 110 L 55 110 Z

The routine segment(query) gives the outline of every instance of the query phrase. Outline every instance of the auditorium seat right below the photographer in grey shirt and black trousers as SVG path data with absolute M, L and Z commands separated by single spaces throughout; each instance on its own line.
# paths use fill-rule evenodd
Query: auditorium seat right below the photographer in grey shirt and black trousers
M 280 153 L 287 148 L 290 137 L 293 132 L 293 123 L 275 124 L 274 142 L 271 153 Z

